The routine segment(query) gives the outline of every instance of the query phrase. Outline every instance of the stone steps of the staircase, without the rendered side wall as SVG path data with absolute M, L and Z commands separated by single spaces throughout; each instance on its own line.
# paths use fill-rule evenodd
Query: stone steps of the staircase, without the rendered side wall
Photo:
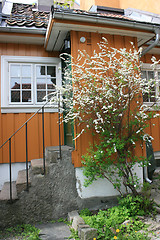
M 62 151 L 70 150 L 70 147 L 62 146 Z M 59 158 L 59 147 L 47 147 L 45 150 L 46 158 L 46 173 L 49 169 L 49 165 L 56 163 Z M 44 166 L 43 159 L 33 159 L 31 160 L 31 165 L 28 169 L 28 186 L 32 186 L 33 178 L 40 175 L 43 177 Z M 26 170 L 20 170 L 18 172 L 18 177 L 16 182 L 12 182 L 12 201 L 18 200 L 19 194 L 27 189 L 27 180 L 26 180 Z M 10 182 L 5 182 L 2 190 L 0 191 L 0 201 L 9 201 L 10 200 Z

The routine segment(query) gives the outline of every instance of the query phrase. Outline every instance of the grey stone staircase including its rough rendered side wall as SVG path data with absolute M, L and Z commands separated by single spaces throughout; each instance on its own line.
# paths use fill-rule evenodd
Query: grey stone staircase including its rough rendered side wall
M 26 171 L 19 171 L 17 180 L 12 183 L 12 202 L 9 201 L 10 185 L 4 183 L 0 192 L 0 229 L 59 219 L 83 205 L 76 190 L 72 150 L 62 146 L 60 159 L 59 147 L 47 147 L 45 175 L 42 159 L 33 159 L 28 170 L 29 191 L 26 191 Z

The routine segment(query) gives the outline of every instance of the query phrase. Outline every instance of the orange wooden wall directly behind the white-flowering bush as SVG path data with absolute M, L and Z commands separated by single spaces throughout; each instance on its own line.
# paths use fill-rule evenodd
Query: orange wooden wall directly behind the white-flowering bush
M 85 37 L 87 41 L 85 43 L 80 42 L 81 37 Z M 86 50 L 89 55 L 93 53 L 94 50 L 98 50 L 97 43 L 102 40 L 102 37 L 105 37 L 108 40 L 108 44 L 111 47 L 115 47 L 117 49 L 126 47 L 128 50 L 131 45 L 130 42 L 133 42 L 137 47 L 137 38 L 127 37 L 127 36 L 119 36 L 119 35 L 109 35 L 109 34 L 98 34 L 98 33 L 86 33 L 86 32 L 71 32 L 71 54 L 74 58 L 77 57 L 78 49 Z M 75 42 L 77 44 L 75 44 Z M 76 132 L 80 132 L 80 129 L 77 129 L 75 126 Z M 81 135 L 75 141 L 75 151 L 72 154 L 72 159 L 75 167 L 81 167 L 81 156 L 86 153 L 87 148 L 89 148 L 89 143 L 93 143 L 95 141 L 95 136 L 92 136 L 91 133 L 87 132 Z M 142 152 L 141 148 L 137 147 L 135 149 L 135 153 L 137 155 L 143 155 L 145 153 Z

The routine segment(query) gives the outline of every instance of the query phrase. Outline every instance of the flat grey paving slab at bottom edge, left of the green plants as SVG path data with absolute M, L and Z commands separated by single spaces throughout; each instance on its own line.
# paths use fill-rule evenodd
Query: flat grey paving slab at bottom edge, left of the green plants
M 69 227 L 63 223 L 43 223 L 36 225 L 40 232 L 40 239 L 42 240 L 64 240 L 71 235 Z

